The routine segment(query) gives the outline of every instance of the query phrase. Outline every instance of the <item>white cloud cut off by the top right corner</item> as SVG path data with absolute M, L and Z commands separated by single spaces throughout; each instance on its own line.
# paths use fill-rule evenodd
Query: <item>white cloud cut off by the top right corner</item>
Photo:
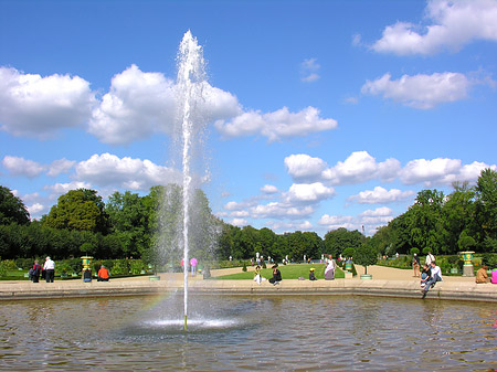
M 446 49 L 457 51 L 474 40 L 497 41 L 495 0 L 433 0 L 425 14 L 432 24 L 389 25 L 372 50 L 400 55 L 434 54 Z

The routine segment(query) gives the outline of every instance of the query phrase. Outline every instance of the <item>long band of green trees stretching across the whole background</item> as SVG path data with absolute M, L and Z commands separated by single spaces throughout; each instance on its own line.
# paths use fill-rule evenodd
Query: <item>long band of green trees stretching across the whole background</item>
M 190 215 L 191 256 L 201 259 L 247 259 L 256 253 L 274 261 L 304 256 L 335 257 L 346 248 L 367 246 L 380 255 L 409 254 L 412 248 L 455 254 L 472 248 L 497 252 L 497 172 L 482 171 L 476 185 L 454 183 L 454 191 L 423 190 L 409 210 L 378 228 L 373 236 L 343 227 L 321 238 L 315 232 L 276 234 L 271 228 L 237 227 L 215 217 L 201 190 L 194 191 Z M 22 200 L 0 187 L 0 257 L 57 259 L 141 258 L 179 262 L 182 245 L 182 189 L 157 185 L 147 195 L 115 192 L 107 203 L 97 191 L 72 190 L 39 221 L 31 221 Z M 160 233 L 159 233 L 160 232 Z

